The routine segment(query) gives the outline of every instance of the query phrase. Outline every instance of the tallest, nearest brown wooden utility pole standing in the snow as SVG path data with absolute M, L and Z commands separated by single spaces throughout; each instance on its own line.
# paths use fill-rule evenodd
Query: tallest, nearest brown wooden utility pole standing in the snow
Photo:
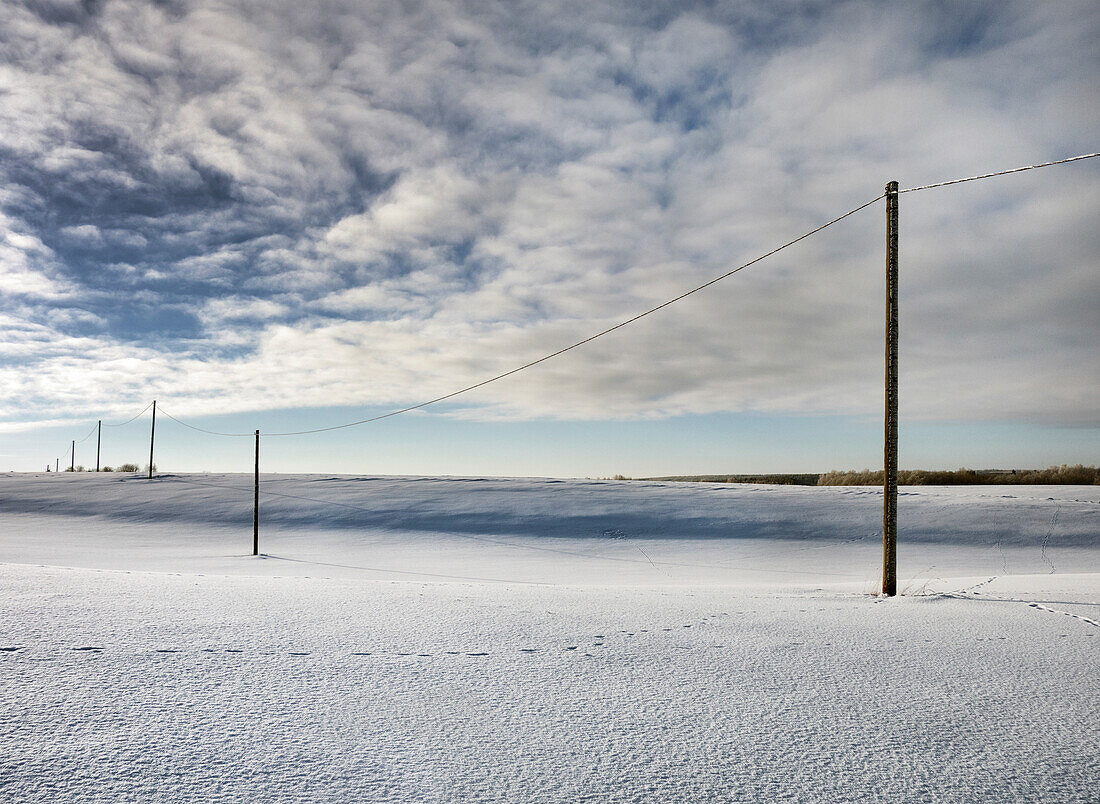
M 882 594 L 898 594 L 898 183 L 887 185 L 887 376 Z

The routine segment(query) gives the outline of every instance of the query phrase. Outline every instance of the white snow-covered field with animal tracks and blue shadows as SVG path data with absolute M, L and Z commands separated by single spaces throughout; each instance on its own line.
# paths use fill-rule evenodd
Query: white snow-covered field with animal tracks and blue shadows
M 0 475 L 0 800 L 1094 802 L 1100 487 Z

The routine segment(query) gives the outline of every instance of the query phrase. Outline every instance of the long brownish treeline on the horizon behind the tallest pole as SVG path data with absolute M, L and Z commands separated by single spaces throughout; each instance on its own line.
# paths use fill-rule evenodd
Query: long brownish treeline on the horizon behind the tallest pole
M 629 480 L 622 475 L 617 480 Z M 826 472 L 825 474 L 733 474 L 733 475 L 678 475 L 674 477 L 644 477 L 648 481 L 689 481 L 695 483 L 772 483 L 785 486 L 880 486 L 882 470 L 862 472 Z M 898 484 L 902 486 L 977 486 L 977 485 L 1097 485 L 1100 470 L 1076 464 L 1048 469 L 958 469 L 930 471 L 900 470 Z

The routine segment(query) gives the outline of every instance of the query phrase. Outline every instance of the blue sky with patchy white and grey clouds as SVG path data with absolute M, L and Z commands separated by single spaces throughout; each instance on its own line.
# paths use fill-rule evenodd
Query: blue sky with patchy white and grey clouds
M 330 427 L 1100 151 L 1094 2 L 0 4 L 0 470 Z M 900 199 L 901 465 L 1100 461 L 1100 159 Z M 280 472 L 881 464 L 883 202 Z M 148 414 L 103 462 L 147 461 Z M 95 463 L 95 436 L 77 463 Z M 157 419 L 157 465 L 250 471 Z

